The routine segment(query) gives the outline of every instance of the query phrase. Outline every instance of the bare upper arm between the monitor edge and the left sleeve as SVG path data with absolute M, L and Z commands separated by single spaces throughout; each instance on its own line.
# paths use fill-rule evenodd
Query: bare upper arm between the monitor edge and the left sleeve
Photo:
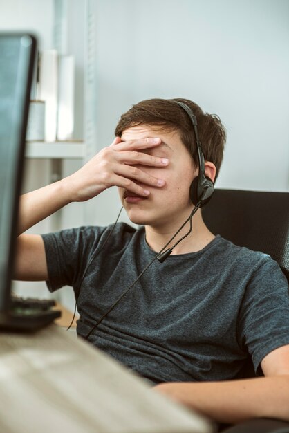
M 14 279 L 48 279 L 44 241 L 39 234 L 21 234 L 17 238 Z

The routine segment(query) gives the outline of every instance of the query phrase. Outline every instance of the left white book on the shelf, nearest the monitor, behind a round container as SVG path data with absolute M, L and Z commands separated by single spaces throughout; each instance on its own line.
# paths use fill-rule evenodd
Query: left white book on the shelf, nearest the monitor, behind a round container
M 57 69 L 57 51 L 42 51 L 37 99 L 45 101 L 45 141 L 55 141 L 57 134 Z

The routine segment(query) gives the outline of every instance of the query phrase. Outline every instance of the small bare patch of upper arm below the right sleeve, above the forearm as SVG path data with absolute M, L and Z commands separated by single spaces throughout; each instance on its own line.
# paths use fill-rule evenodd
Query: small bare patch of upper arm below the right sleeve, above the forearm
M 289 344 L 268 353 L 261 361 L 264 376 L 289 374 Z

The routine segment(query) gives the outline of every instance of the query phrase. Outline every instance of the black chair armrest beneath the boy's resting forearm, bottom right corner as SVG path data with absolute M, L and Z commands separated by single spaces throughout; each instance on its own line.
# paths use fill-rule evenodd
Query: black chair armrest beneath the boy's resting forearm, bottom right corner
M 289 433 L 289 423 L 272 418 L 253 418 L 221 431 L 223 433 Z

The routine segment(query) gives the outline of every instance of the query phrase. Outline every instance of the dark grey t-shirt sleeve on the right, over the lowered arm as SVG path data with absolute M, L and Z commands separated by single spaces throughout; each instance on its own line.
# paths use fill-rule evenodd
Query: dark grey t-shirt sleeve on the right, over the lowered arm
M 241 344 L 250 353 L 257 373 L 268 353 L 289 344 L 288 282 L 269 256 L 263 256 L 252 272 L 240 310 L 239 329 Z

